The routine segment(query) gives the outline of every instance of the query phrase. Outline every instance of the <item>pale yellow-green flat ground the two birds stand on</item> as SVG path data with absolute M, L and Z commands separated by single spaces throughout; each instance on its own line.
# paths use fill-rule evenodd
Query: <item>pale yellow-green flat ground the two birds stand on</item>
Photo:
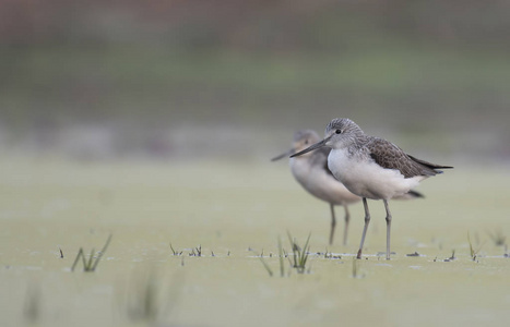
M 383 206 L 369 203 L 366 259 L 354 278 L 361 205 L 352 207 L 348 246 L 340 245 L 342 223 L 336 245 L 328 246 L 328 205 L 305 193 L 283 162 L 4 157 L 0 324 L 503 326 L 510 258 L 489 233 L 510 234 L 510 172 L 441 164 L 456 168 L 423 182 L 425 199 L 392 202 L 389 262 L 376 255 L 386 244 Z M 312 255 L 309 274 L 280 277 L 278 259 L 269 255 L 277 253 L 278 235 L 289 250 L 287 230 L 301 243 L 311 232 L 311 252 L 328 249 L 342 258 Z M 71 272 L 79 249 L 98 250 L 109 233 L 97 270 L 80 265 Z M 202 256 L 190 256 L 199 245 Z M 453 250 L 456 259 L 444 262 Z M 273 277 L 257 257 L 262 251 Z M 406 256 L 414 252 L 422 256 Z M 152 302 L 143 300 L 147 290 Z M 156 313 L 142 317 L 144 304 Z

